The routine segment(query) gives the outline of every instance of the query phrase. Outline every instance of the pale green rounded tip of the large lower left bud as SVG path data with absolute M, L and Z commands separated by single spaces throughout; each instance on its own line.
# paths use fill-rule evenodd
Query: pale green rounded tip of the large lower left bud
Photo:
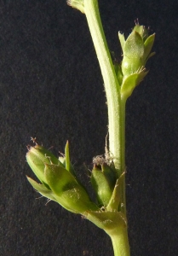
M 39 181 L 45 184 L 47 187 L 48 183 L 44 177 L 45 164 L 64 166 L 54 154 L 39 145 L 29 149 L 29 151 L 26 153 L 26 160 L 28 165 L 31 167 L 32 172 L 34 172 Z

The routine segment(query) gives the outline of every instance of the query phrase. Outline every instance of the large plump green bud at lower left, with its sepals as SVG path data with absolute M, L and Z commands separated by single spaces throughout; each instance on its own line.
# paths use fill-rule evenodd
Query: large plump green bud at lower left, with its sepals
M 68 143 L 66 151 L 67 147 Z M 57 201 L 70 212 L 84 215 L 86 211 L 98 211 L 99 208 L 90 201 L 87 191 L 70 172 L 69 155 L 66 157 L 66 169 L 47 149 L 36 145 L 29 149 L 26 160 L 42 184 L 30 177 L 27 177 L 28 181 L 41 195 Z

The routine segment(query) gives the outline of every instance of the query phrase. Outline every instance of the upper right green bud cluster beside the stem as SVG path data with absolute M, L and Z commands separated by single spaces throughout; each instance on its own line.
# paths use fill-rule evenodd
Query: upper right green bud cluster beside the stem
M 155 34 L 148 36 L 146 27 L 136 24 L 126 40 L 120 32 L 118 38 L 123 50 L 123 61 L 121 65 L 116 65 L 116 73 L 121 96 L 127 99 L 148 73 L 145 66 L 146 61 L 155 54 L 151 53 Z

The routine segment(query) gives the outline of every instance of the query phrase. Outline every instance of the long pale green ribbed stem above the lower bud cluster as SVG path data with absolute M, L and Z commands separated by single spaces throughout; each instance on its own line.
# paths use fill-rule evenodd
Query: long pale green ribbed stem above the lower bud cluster
M 100 20 L 97 0 L 84 0 L 84 12 L 89 24 L 91 37 L 103 76 L 108 108 L 109 151 L 118 175 L 125 171 L 125 100 L 121 98 L 120 85 L 115 73 L 112 58 L 106 43 Z M 126 212 L 125 183 L 123 183 L 122 212 Z

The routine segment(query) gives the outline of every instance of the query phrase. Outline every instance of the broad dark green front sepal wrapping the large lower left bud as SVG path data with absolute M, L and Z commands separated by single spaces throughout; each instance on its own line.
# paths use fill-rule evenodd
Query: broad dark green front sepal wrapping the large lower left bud
M 55 194 L 55 199 L 66 210 L 80 214 L 88 210 L 98 210 L 98 207 L 90 201 L 86 190 L 65 168 L 46 165 L 44 174 L 50 189 Z

